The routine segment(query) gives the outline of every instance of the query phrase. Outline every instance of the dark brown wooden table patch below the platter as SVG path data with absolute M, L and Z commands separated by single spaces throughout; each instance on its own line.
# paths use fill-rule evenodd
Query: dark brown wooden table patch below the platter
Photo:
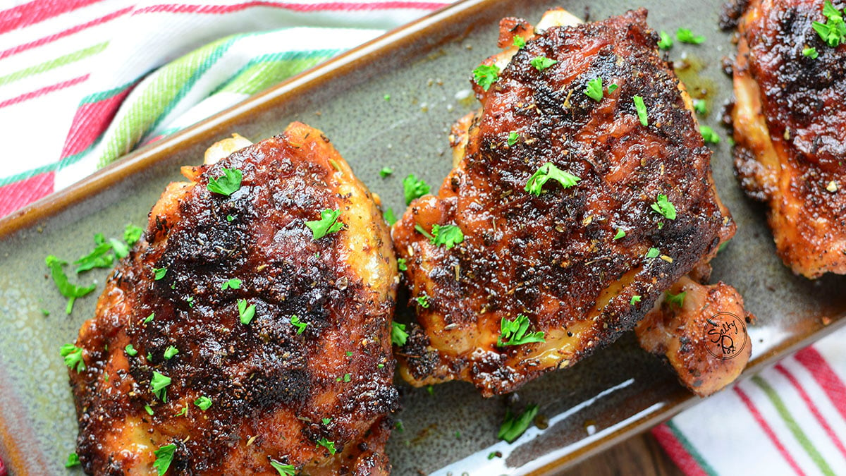
M 684 476 L 649 432 L 590 457 L 562 476 Z

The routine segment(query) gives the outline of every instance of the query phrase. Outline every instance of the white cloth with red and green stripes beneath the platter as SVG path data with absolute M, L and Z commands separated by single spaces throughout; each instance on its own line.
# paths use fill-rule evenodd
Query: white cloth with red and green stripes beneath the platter
M 12 2 L 0 11 L 0 216 L 447 3 Z M 689 474 L 846 473 L 844 338 L 653 433 Z

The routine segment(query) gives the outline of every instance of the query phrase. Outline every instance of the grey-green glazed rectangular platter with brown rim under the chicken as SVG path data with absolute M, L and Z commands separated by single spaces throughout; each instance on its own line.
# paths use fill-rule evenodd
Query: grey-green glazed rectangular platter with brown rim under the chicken
M 711 114 L 705 122 L 725 136 L 717 123 L 731 82 L 720 64 L 733 54 L 733 45 L 717 29 L 719 0 L 467 0 L 130 154 L 0 220 L 0 457 L 10 472 L 80 472 L 63 468 L 74 450 L 76 421 L 58 347 L 73 341 L 80 324 L 91 317 L 107 270 L 83 276 L 100 285 L 67 316 L 65 299 L 47 278 L 48 253 L 72 260 L 91 250 L 94 233 L 120 236 L 125 224 L 143 224 L 164 186 L 179 180 L 179 166 L 200 163 L 213 141 L 233 131 L 260 140 L 294 119 L 324 130 L 385 205 L 402 210 L 406 174 L 437 186 L 448 173 L 448 128 L 477 107 L 468 77 L 481 59 L 496 52 L 498 20 L 520 16 L 535 22 L 559 5 L 588 19 L 645 6 L 657 30 L 684 26 L 706 35 L 704 45 L 677 43 L 669 56 L 678 62 L 687 53 L 692 69 L 700 69 L 682 78 L 694 95 L 700 88 L 708 90 Z M 809 281 L 791 274 L 775 255 L 764 208 L 745 199 L 734 179 L 725 141 L 714 150 L 717 188 L 738 223 L 738 234 L 713 262 L 713 280 L 734 285 L 758 317 L 750 327 L 749 375 L 846 324 L 846 280 Z M 382 179 L 378 170 L 386 165 L 394 174 Z M 404 410 L 398 418 L 404 431 L 394 431 L 388 451 L 400 475 L 556 473 L 697 401 L 668 368 L 640 351 L 632 335 L 512 396 L 485 400 L 463 383 L 438 385 L 432 394 L 399 385 Z M 532 427 L 513 445 L 497 442 L 509 398 L 538 403 L 543 417 L 538 421 L 546 420 L 541 426 L 547 428 Z M 503 457 L 488 460 L 491 451 Z

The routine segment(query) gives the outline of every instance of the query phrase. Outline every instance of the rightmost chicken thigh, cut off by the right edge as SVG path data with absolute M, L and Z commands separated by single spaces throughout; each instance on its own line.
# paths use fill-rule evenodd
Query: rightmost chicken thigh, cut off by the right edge
M 749 3 L 732 113 L 744 189 L 769 204 L 784 263 L 811 279 L 846 274 L 846 45 L 828 47 L 813 21 L 826 21 L 821 0 Z M 819 57 L 805 57 L 805 47 Z

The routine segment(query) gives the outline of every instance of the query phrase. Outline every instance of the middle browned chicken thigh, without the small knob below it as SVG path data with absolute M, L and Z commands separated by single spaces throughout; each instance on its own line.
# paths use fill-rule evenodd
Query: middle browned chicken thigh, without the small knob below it
M 554 26 L 573 18 L 556 10 L 537 35 L 525 20 L 501 23 L 508 49 L 485 64 L 502 71 L 489 91 L 474 85 L 481 111 L 453 128 L 455 169 L 392 230 L 412 298 L 428 296 L 428 307 L 411 301 L 419 325 L 398 351 L 412 385 L 462 379 L 492 396 L 568 367 L 632 329 L 733 234 L 711 152 L 645 17 L 640 9 Z M 519 51 L 515 34 L 526 40 Z M 538 56 L 558 63 L 539 71 L 530 64 Z M 597 76 L 606 88 L 599 102 L 584 92 Z M 509 147 L 512 131 L 519 141 Z M 547 162 L 581 180 L 566 189 L 550 180 L 530 195 L 527 180 Z M 652 210 L 659 194 L 676 219 Z M 434 246 L 415 231 L 434 224 L 458 225 L 464 241 Z M 614 240 L 618 230 L 625 236 Z M 658 257 L 646 257 L 651 247 Z M 502 319 L 518 314 L 546 341 L 497 346 Z

